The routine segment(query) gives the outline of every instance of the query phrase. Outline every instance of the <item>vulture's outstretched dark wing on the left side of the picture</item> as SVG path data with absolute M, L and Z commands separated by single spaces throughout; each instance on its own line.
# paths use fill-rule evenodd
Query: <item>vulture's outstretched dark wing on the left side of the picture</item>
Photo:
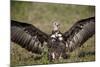
M 31 24 L 11 20 L 11 41 L 33 53 L 42 53 L 48 35 Z

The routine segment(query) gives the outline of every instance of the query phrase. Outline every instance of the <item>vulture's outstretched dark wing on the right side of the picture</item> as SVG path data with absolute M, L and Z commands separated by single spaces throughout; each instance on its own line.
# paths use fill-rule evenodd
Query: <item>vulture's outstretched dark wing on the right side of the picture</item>
M 95 17 L 82 19 L 76 22 L 67 32 L 63 34 L 68 51 L 80 47 L 95 34 Z

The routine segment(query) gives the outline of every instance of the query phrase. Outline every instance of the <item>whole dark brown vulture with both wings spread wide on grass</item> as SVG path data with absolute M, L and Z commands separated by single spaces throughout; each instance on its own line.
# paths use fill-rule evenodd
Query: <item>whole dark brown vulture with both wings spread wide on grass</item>
M 11 41 L 36 54 L 44 51 L 46 43 L 50 61 L 66 58 L 69 52 L 82 46 L 95 34 L 95 17 L 77 21 L 64 33 L 59 27 L 59 23 L 53 22 L 52 33 L 46 34 L 32 24 L 11 20 Z

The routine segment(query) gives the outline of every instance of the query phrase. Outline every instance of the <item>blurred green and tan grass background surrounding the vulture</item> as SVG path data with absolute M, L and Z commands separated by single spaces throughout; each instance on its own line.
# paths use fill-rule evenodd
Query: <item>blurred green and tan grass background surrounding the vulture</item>
M 48 34 L 52 31 L 54 20 L 60 23 L 61 32 L 65 32 L 78 20 L 91 16 L 95 16 L 95 6 L 11 1 L 11 19 L 33 24 Z M 95 36 L 71 52 L 68 59 L 51 63 L 47 52 L 45 47 L 44 55 L 40 58 L 41 56 L 11 42 L 11 66 L 94 61 Z M 40 59 L 35 59 L 37 56 Z

